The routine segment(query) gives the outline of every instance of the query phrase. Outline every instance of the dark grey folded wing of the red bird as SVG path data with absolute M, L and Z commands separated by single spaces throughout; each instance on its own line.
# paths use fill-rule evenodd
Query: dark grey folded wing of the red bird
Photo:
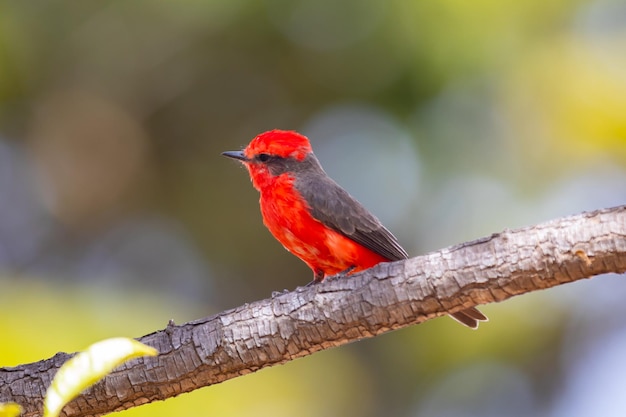
M 323 171 L 299 176 L 295 187 L 311 215 L 326 226 L 390 261 L 409 257 L 395 236 Z

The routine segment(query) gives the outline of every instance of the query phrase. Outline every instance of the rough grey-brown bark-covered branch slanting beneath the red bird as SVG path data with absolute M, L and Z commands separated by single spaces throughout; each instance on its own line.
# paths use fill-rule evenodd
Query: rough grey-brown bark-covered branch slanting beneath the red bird
M 478 304 L 625 271 L 626 206 L 505 230 L 170 324 L 139 338 L 157 348 L 158 357 L 118 368 L 64 413 L 99 416 L 164 400 Z M 0 369 L 0 402 L 15 401 L 26 416 L 40 415 L 46 387 L 69 356 Z

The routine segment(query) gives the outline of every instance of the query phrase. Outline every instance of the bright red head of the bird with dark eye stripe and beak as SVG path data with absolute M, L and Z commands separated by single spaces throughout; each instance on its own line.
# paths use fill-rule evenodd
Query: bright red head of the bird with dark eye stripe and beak
M 241 161 L 248 168 L 255 188 L 262 191 L 273 178 L 303 165 L 313 151 L 306 136 L 298 132 L 270 130 L 256 136 L 242 151 L 222 152 L 222 155 Z

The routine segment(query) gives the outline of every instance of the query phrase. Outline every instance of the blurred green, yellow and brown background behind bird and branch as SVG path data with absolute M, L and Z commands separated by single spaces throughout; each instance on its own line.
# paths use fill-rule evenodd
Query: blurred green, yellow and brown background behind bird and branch
M 622 0 L 0 2 L 0 366 L 310 281 L 220 156 L 308 135 L 425 253 L 626 199 Z M 604 276 L 127 416 L 623 416 Z

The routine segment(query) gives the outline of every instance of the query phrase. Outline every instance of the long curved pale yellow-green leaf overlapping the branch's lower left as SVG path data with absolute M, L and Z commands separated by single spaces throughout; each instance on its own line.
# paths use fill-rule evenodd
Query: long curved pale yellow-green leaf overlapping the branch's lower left
M 59 369 L 46 392 L 44 417 L 57 417 L 65 404 L 127 360 L 157 354 L 156 349 L 125 337 L 94 343 Z

